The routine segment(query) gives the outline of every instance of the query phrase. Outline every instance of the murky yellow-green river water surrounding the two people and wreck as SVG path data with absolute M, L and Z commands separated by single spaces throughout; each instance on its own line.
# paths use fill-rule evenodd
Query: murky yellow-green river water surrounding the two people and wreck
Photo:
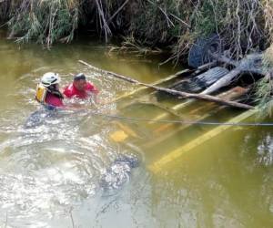
M 165 134 L 163 124 L 131 123 L 130 130 L 144 140 L 130 141 L 136 147 L 130 150 L 111 140 L 119 132 L 116 119 L 90 113 L 116 114 L 115 102 L 98 108 L 85 103 L 86 111 L 45 115 L 45 122 L 24 126 L 41 109 L 35 86 L 46 71 L 58 72 L 63 86 L 71 74 L 86 73 L 106 102 L 134 88 L 88 71 L 78 59 L 145 82 L 170 75 L 172 67 L 158 68 L 158 59 L 108 55 L 106 47 L 87 41 L 47 51 L 2 38 L 0 59 L 1 227 L 272 227 L 271 128 L 231 128 L 154 172 L 153 162 L 211 127 L 194 126 L 167 143 L 148 146 Z M 152 118 L 162 112 L 139 104 L 122 114 Z M 237 114 L 224 109 L 213 119 Z M 184 113 L 187 119 L 195 115 Z M 157 130 L 157 137 L 150 138 L 149 130 Z M 121 154 L 136 156 L 140 165 L 122 170 L 126 180 L 107 191 L 102 179 Z

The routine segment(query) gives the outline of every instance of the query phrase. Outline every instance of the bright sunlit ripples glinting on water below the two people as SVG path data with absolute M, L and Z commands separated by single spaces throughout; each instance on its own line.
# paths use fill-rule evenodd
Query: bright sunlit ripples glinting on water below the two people
M 1 125 L 8 137 L 0 143 L 0 212 L 21 225 L 25 218 L 41 222 L 39 216 L 62 214 L 96 195 L 119 153 L 107 140 L 108 121 L 103 126 L 103 119 L 86 112 L 49 115 L 42 109 L 35 115 L 40 115 L 35 124 L 15 124 L 12 134 L 5 130 L 11 124 L 7 119 Z M 128 171 L 119 172 L 125 176 Z

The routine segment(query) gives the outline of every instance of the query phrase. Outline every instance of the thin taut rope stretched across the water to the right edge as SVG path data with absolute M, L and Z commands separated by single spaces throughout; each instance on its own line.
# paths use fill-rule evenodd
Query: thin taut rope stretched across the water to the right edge
M 122 119 L 129 121 L 143 121 L 143 122 L 157 122 L 157 123 L 172 123 L 184 125 L 217 125 L 217 126 L 238 126 L 238 127 L 273 127 L 273 122 L 217 122 L 217 121 L 195 121 L 195 120 L 172 120 L 172 119 L 146 119 L 146 118 L 133 118 L 118 115 L 104 114 L 100 112 L 90 111 L 88 114 L 109 119 Z

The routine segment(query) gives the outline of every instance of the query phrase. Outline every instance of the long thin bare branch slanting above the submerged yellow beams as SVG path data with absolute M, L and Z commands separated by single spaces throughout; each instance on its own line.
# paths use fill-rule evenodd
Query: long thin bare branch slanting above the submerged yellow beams
M 136 85 L 142 85 L 142 86 L 145 86 L 145 87 L 148 87 L 148 88 L 154 88 L 154 89 L 156 89 L 158 91 L 167 92 L 169 94 L 177 95 L 177 96 L 182 97 L 182 98 L 197 98 L 197 99 L 212 101 L 212 102 L 216 102 L 218 104 L 227 105 L 227 106 L 231 106 L 231 107 L 236 107 L 236 108 L 240 108 L 240 109 L 254 109 L 253 106 L 249 106 L 249 105 L 246 105 L 246 104 L 241 104 L 241 103 L 238 103 L 238 102 L 235 102 L 235 101 L 228 101 L 228 100 L 213 97 L 213 96 L 210 96 L 210 95 L 187 93 L 187 92 L 181 92 L 181 91 L 177 91 L 177 90 L 170 89 L 170 88 L 161 88 L 161 87 L 153 86 L 153 85 L 150 85 L 150 84 L 147 84 L 147 83 L 137 81 L 136 79 L 133 79 L 133 78 L 128 78 L 126 76 L 119 75 L 119 74 L 116 74 L 114 72 L 110 72 L 110 71 L 106 71 L 106 70 L 94 67 L 94 66 L 86 63 L 83 60 L 78 60 L 78 61 L 79 61 L 79 63 L 85 65 L 86 67 L 89 67 L 90 69 L 93 69 L 93 70 L 95 70 L 97 72 L 100 72 L 101 74 L 106 74 L 106 75 L 111 76 L 111 77 L 123 79 L 123 80 L 126 80 L 127 82 L 134 83 Z

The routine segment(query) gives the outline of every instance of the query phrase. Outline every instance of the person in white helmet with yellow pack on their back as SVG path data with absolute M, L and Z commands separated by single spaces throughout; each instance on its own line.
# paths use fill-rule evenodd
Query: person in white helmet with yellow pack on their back
M 59 90 L 61 78 L 53 72 L 47 72 L 41 78 L 36 89 L 36 100 L 48 108 L 64 107 L 64 96 Z

